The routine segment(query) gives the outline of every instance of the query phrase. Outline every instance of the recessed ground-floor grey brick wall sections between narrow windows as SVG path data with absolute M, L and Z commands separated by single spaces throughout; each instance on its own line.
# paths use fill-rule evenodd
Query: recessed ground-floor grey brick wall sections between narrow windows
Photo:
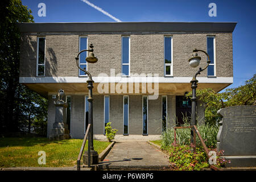
M 85 96 L 71 96 L 71 137 L 84 137 L 84 99 Z M 55 106 L 53 99 L 48 97 L 47 137 L 55 121 Z M 167 96 L 168 127 L 175 125 L 175 96 Z M 198 107 L 199 115 L 203 110 Z M 123 96 L 110 96 L 110 122 L 118 129 L 117 135 L 123 134 Z M 157 100 L 148 100 L 148 135 L 162 133 L 162 96 Z M 104 132 L 104 96 L 93 96 L 93 133 L 102 135 Z M 129 96 L 129 135 L 142 135 L 142 96 Z

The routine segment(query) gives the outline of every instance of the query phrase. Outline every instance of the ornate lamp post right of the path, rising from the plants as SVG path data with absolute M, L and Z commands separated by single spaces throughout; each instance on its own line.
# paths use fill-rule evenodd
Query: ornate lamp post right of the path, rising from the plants
M 200 75 L 200 73 L 202 71 L 207 69 L 207 67 L 210 63 L 210 58 L 209 58 L 209 55 L 208 55 L 207 52 L 199 50 L 199 49 L 194 49 L 191 59 L 188 60 L 189 65 L 192 68 L 196 68 L 200 64 L 201 57 L 197 56 L 197 52 L 199 52 L 199 51 L 204 52 L 207 55 L 208 61 L 207 61 L 207 66 L 204 69 L 199 68 L 199 71 L 196 72 L 195 76 L 193 76 L 193 78 L 191 80 L 191 88 L 192 88 L 192 98 L 191 98 L 191 101 L 192 101 L 192 119 L 191 119 L 191 126 L 196 125 L 196 88 L 197 88 L 197 82 L 198 82 L 198 80 L 196 80 L 196 76 Z M 195 129 L 193 129 L 193 128 L 191 129 L 191 143 L 193 143 L 193 144 L 196 143 L 196 132 L 195 132 Z

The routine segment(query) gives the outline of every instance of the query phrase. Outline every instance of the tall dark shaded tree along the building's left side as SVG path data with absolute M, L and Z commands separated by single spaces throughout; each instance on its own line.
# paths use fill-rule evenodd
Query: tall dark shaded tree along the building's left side
M 20 0 L 0 1 L 0 133 L 27 130 L 28 121 L 31 124 L 46 113 L 47 100 L 19 84 L 20 32 L 16 23 L 34 22 L 31 13 Z

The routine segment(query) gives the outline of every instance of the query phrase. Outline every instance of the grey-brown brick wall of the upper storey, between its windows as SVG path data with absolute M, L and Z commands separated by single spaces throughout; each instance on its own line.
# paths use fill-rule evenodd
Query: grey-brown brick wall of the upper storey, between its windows
M 106 73 L 110 68 L 115 74 L 121 72 L 121 36 L 130 35 L 131 73 L 159 73 L 164 75 L 164 35 L 173 36 L 174 76 L 191 77 L 198 68 L 191 68 L 188 59 L 194 48 L 207 51 L 207 35 L 216 36 L 217 77 L 233 76 L 232 33 L 185 33 L 185 32 L 72 32 L 46 33 L 46 76 L 77 76 L 75 57 L 79 51 L 79 36 L 88 36 L 93 43 L 98 62 L 88 64 L 92 76 Z M 36 76 L 36 34 L 23 33 L 20 46 L 20 76 Z M 200 66 L 205 67 L 207 57 L 202 57 Z M 202 72 L 199 77 L 207 76 Z

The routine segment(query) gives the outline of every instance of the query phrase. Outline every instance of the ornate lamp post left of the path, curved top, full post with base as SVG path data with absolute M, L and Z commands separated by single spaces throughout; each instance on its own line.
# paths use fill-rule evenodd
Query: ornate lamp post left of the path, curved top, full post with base
M 93 89 L 93 80 L 92 80 L 92 75 L 90 75 L 90 73 L 88 71 L 86 71 L 85 69 L 80 68 L 79 66 L 79 55 L 82 52 L 88 51 L 88 56 L 85 58 L 85 60 L 88 63 L 96 63 L 98 61 L 97 57 L 94 56 L 93 53 L 93 44 L 90 44 L 89 49 L 84 49 L 82 51 L 80 51 L 76 57 L 76 65 L 77 67 L 83 71 L 85 74 L 88 75 L 88 80 L 87 80 L 87 88 L 89 89 L 89 93 L 88 93 L 88 104 L 89 104 L 89 113 L 88 113 L 88 122 L 90 124 L 90 131 L 89 131 L 89 138 L 88 138 L 88 145 L 90 147 L 90 151 L 85 151 L 84 152 L 84 164 L 87 162 L 88 158 L 90 157 L 90 159 L 92 158 L 92 160 L 88 160 L 90 161 L 91 164 L 98 164 L 98 153 L 97 151 L 94 151 L 94 147 L 93 147 L 93 105 L 92 105 L 92 89 Z M 90 156 L 88 156 L 90 155 Z

